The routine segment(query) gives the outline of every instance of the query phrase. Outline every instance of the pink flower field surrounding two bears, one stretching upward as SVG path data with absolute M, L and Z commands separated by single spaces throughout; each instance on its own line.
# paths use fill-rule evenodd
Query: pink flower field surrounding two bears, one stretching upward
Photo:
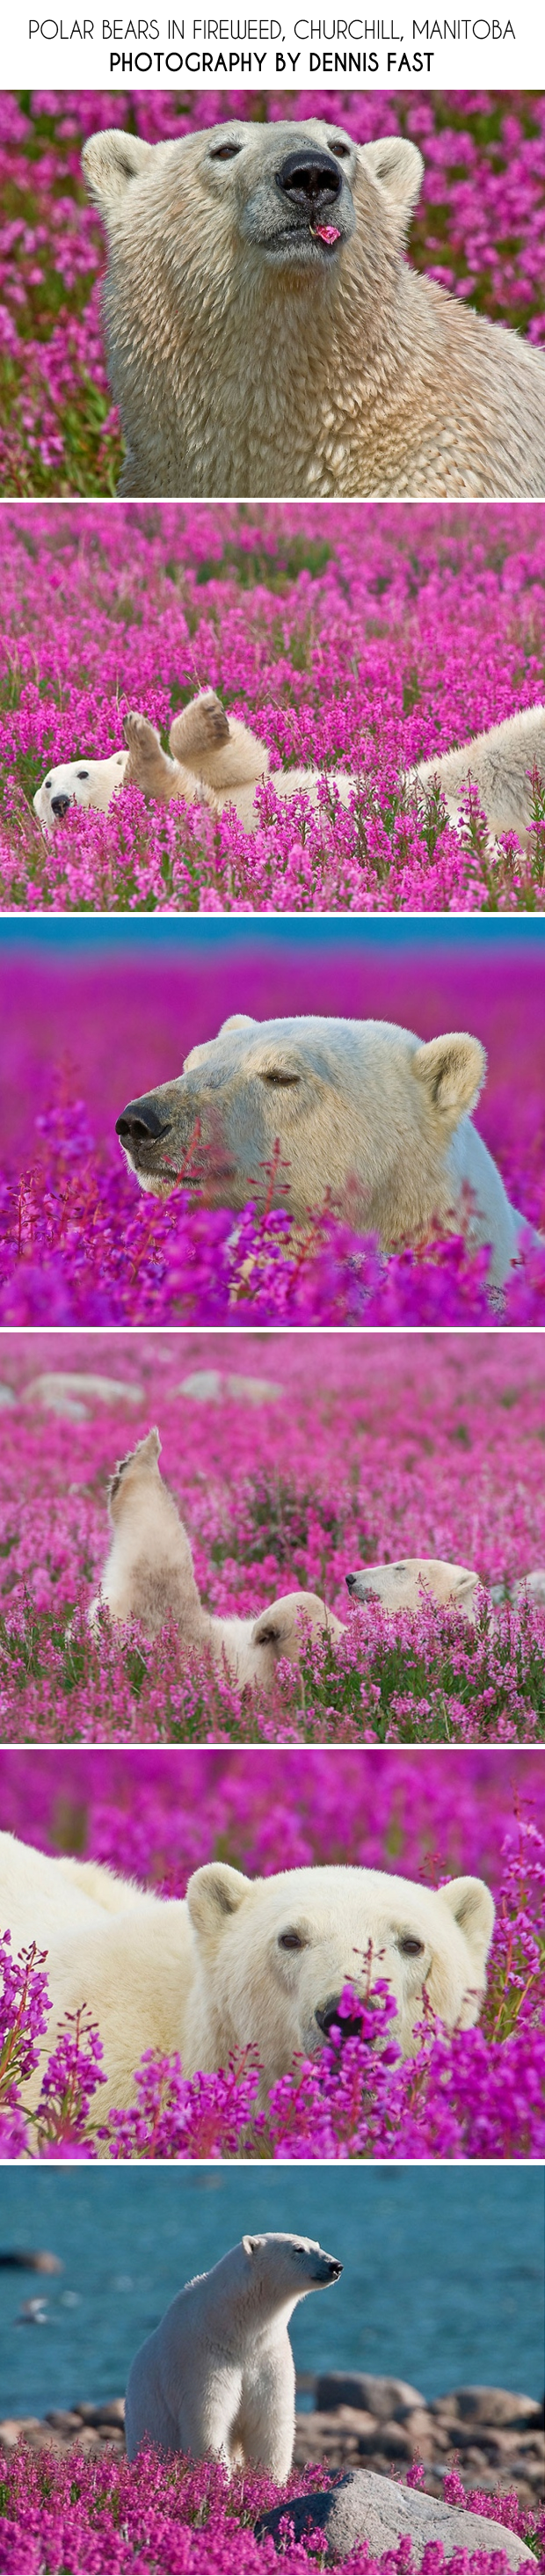
M 180 1394 L 195 1368 L 267 1376 L 278 1401 Z M 139 1388 L 67 1422 L 28 1396 L 44 1368 L 98 1368 Z M 542 1337 L 535 1334 L 3 1334 L 0 1736 L 121 1744 L 537 1744 L 545 1613 L 509 1587 L 545 1566 Z M 105 1481 L 149 1422 L 213 1613 L 321 1592 L 347 1638 L 314 1646 L 272 1698 L 177 1636 L 87 1633 L 105 1558 Z M 452 1610 L 352 1610 L 344 1574 L 391 1556 L 476 1566 L 506 1592 L 478 1628 Z M 67 1638 L 67 1625 L 75 1628 Z

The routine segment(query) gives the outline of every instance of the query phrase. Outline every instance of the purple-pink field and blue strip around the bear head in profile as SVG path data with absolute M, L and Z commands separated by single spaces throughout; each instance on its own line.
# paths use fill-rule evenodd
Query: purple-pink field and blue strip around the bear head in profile
M 476 1123 L 514 1208 L 542 1226 L 542 922 L 452 938 L 434 922 L 44 922 L 39 935 L 15 922 L 0 943 L 0 1321 L 540 1324 L 545 1249 L 530 1239 L 494 1309 L 488 1255 L 460 1239 L 383 1265 L 350 1208 L 311 1211 L 293 1239 L 285 1164 L 280 1182 L 257 1172 L 237 1229 L 183 1188 L 165 1203 L 136 1188 L 118 1113 L 234 1010 L 473 1030 L 488 1048 Z

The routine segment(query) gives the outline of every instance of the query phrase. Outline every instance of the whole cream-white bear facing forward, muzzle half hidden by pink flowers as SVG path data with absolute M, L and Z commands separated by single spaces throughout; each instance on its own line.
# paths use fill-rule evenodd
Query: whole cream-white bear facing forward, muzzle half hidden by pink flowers
M 193 1870 L 185 1899 L 162 1899 L 100 1862 L 51 1860 L 0 1834 L 0 1919 L 13 1953 L 46 1950 L 49 2040 L 64 2012 L 90 2007 L 108 2084 L 98 2117 L 136 2099 L 144 2048 L 180 2050 L 185 2076 L 255 2048 L 260 2102 L 293 2058 L 316 2058 L 350 1984 L 388 1978 L 401 2056 L 432 2012 L 470 2030 L 486 1989 L 494 1899 L 483 1878 L 422 1888 L 386 1870 L 301 1868 L 244 1878 L 221 1860 Z M 41 2074 L 23 2087 L 36 2105 Z

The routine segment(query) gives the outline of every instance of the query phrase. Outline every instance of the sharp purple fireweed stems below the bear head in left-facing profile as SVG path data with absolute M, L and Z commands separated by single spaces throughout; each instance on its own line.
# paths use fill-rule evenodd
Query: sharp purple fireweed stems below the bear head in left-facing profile
M 108 1012 L 108 987 L 103 992 Z M 532 997 L 527 997 L 527 1020 Z M 165 1041 L 162 1041 L 165 1043 Z M 177 1038 L 180 1051 L 180 1038 Z M 506 1072 L 506 1066 L 504 1066 Z M 33 1092 L 36 1069 L 31 1066 Z M 499 1115 L 504 1097 L 499 1092 Z M 535 1131 L 530 1115 L 535 1108 Z M 501 1175 L 532 1226 L 542 1211 L 542 1100 L 519 1079 L 519 1139 L 501 1133 Z M 494 1126 L 494 1110 L 488 1108 Z M 298 1234 L 280 1144 L 257 1195 L 231 1216 L 188 1188 L 170 1200 L 136 1193 L 118 1149 L 100 1149 L 82 1100 L 59 1097 L 36 1118 L 36 1154 L 0 1180 L 0 1324 L 542 1324 L 545 1242 L 522 1236 L 504 1296 L 488 1296 L 488 1249 L 465 1234 L 383 1260 L 378 1239 L 324 1198 Z M 468 1224 L 468 1211 L 460 1224 Z

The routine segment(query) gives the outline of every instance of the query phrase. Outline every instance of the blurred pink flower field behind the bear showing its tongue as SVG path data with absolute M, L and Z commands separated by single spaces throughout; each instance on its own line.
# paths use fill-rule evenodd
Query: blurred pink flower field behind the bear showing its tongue
M 3 489 L 105 495 L 121 440 L 111 410 L 100 276 L 103 229 L 85 198 L 80 152 L 100 126 L 147 142 L 224 116 L 326 116 L 357 142 L 411 134 L 424 188 L 411 260 L 491 319 L 542 340 L 545 98 L 542 93 L 33 93 L 3 95 Z

